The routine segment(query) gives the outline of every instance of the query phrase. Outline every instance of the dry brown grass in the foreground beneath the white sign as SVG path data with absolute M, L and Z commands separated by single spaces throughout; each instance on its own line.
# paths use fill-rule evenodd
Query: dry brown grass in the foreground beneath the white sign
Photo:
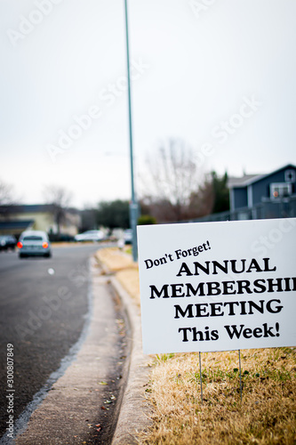
M 237 352 L 163 354 L 148 387 L 154 425 L 148 444 L 294 444 L 296 354 L 292 348 L 242 351 L 243 401 Z

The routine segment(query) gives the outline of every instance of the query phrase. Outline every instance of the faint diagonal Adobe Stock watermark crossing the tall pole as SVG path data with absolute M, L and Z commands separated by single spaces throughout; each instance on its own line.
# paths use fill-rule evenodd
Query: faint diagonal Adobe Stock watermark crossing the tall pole
M 131 63 L 131 80 L 138 80 L 150 66 L 138 58 Z M 126 76 L 117 77 L 115 82 L 110 82 L 102 88 L 99 93 L 100 105 L 93 104 L 82 115 L 73 115 L 73 123 L 66 130 L 60 129 L 56 143 L 47 144 L 46 150 L 52 162 L 56 162 L 56 158 L 65 153 L 73 143 L 80 139 L 87 132 L 95 120 L 103 115 L 104 107 L 112 107 L 119 98 L 121 98 L 128 89 L 128 81 Z

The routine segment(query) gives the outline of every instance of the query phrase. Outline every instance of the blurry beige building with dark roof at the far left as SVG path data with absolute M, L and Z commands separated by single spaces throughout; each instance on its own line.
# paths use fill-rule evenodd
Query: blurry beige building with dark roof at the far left
M 80 212 L 68 209 L 60 233 L 75 236 L 81 224 Z M 0 206 L 0 234 L 19 236 L 26 230 L 46 231 L 49 234 L 58 232 L 55 222 L 54 206 L 42 205 L 12 205 Z

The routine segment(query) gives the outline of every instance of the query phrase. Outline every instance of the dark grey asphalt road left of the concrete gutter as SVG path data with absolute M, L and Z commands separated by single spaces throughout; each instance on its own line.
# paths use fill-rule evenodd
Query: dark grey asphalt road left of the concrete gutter
M 15 421 L 83 331 L 89 316 L 88 262 L 97 249 L 56 247 L 50 259 L 0 253 L 0 437 L 9 407 L 7 344 L 13 351 Z

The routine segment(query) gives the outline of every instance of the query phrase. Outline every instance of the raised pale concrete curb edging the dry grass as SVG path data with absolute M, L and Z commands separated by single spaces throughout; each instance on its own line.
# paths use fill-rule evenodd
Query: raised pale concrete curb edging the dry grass
M 152 425 L 151 407 L 145 397 L 152 358 L 142 352 L 140 309 L 116 278 L 110 282 L 123 303 L 132 334 L 130 368 L 112 445 L 139 444 L 140 433 Z

